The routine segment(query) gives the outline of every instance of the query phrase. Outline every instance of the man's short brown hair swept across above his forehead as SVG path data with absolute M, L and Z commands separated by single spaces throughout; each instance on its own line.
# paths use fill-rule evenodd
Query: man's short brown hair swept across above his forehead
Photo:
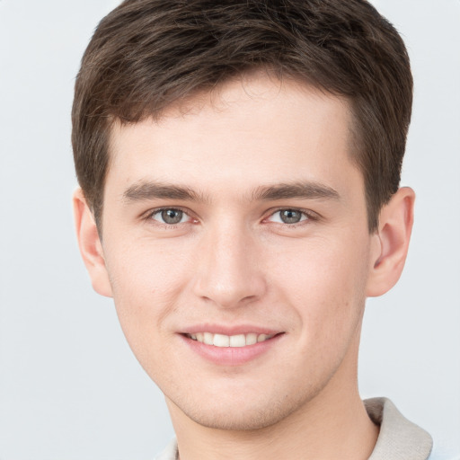
M 369 231 L 399 187 L 411 119 L 403 40 L 365 0 L 126 0 L 97 27 L 75 83 L 72 144 L 101 228 L 111 124 L 258 67 L 345 96 Z

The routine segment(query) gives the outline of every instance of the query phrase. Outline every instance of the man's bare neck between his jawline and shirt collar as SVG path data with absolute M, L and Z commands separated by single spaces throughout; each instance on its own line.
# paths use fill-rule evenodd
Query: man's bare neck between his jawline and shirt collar
M 339 369 L 313 400 L 276 424 L 255 430 L 204 427 L 167 401 L 180 460 L 365 460 L 376 445 L 378 428 L 367 416 L 356 376 L 345 381 L 349 385 L 343 385 Z

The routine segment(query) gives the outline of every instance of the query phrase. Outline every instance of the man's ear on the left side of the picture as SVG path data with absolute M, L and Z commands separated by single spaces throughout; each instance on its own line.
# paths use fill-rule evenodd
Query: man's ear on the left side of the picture
M 94 222 L 93 212 L 84 199 L 82 189 L 75 190 L 73 204 L 76 238 L 93 289 L 102 296 L 111 297 L 111 282 L 105 267 L 102 243 Z

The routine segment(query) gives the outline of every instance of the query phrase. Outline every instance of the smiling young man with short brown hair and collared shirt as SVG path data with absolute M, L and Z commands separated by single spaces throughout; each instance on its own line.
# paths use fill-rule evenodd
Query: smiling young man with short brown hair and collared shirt
M 126 1 L 75 85 L 75 221 L 176 431 L 158 458 L 427 459 L 358 394 L 367 296 L 392 288 L 412 80 L 362 0 Z

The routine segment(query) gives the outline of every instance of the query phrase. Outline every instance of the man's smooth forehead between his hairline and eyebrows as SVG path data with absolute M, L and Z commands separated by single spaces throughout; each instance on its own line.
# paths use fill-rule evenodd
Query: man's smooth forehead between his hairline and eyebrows
M 108 179 L 247 190 L 335 181 L 349 161 L 349 103 L 294 80 L 245 75 L 169 107 L 159 119 L 116 122 Z

